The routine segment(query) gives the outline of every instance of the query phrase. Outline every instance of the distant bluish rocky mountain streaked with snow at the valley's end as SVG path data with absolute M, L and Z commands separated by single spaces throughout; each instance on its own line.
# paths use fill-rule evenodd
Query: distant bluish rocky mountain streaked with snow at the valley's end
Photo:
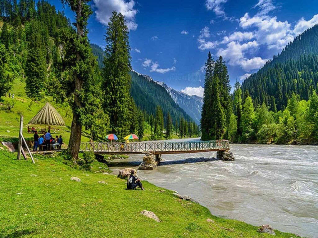
M 196 95 L 188 95 L 183 92 L 170 88 L 167 84 L 162 83 L 172 99 L 189 115 L 193 120 L 200 124 L 201 110 L 203 105 L 203 98 Z

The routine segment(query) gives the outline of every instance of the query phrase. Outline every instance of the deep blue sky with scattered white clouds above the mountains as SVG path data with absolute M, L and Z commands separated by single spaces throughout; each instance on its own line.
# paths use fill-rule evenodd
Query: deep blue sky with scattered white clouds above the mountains
M 58 0 L 49 0 L 73 13 Z M 89 39 L 100 47 L 111 12 L 129 28 L 132 68 L 189 95 L 203 96 L 204 63 L 210 51 L 241 83 L 304 30 L 318 23 L 313 0 L 92 0 Z

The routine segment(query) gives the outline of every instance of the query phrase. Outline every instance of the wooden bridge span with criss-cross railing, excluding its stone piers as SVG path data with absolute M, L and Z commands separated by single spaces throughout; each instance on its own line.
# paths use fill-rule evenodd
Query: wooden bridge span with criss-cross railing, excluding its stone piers
M 229 141 L 198 141 L 198 142 L 132 142 L 132 143 L 97 143 L 81 142 L 80 152 L 95 154 L 182 154 L 230 149 Z

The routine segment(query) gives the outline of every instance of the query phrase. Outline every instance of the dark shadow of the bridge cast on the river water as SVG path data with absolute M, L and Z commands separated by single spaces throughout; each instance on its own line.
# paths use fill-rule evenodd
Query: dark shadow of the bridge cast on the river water
M 182 160 L 169 160 L 169 161 L 162 161 L 158 164 L 158 166 L 163 165 L 170 165 L 170 164 L 190 164 L 190 163 L 199 163 L 199 162 L 211 162 L 216 161 L 216 158 L 186 158 Z M 141 164 L 141 161 L 125 161 L 125 162 L 106 162 L 108 167 L 137 167 Z

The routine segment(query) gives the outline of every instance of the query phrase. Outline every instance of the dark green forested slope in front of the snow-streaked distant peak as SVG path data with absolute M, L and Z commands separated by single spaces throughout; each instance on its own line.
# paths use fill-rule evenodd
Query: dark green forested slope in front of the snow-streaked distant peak
M 155 115 L 156 107 L 160 105 L 163 116 L 168 112 L 175 124 L 183 117 L 187 121 L 194 121 L 169 95 L 168 91 L 162 86 L 162 83 L 154 81 L 148 75 L 142 75 L 136 71 L 131 71 L 131 89 L 130 94 L 134 98 L 138 108 L 146 111 L 148 114 Z

